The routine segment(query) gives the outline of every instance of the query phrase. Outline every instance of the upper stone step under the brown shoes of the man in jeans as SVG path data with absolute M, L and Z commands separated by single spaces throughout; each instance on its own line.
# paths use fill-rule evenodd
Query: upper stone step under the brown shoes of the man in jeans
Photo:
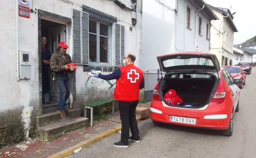
M 57 111 L 49 112 L 49 113 L 43 114 L 41 116 L 37 116 L 36 117 L 37 128 L 55 124 L 55 123 L 61 122 L 61 121 L 66 121 L 68 119 L 74 119 L 76 117 L 81 116 L 81 109 L 67 109 L 67 110 L 69 110 L 69 111 L 66 112 L 66 116 L 67 116 L 66 119 L 60 118 L 60 112 L 57 112 Z

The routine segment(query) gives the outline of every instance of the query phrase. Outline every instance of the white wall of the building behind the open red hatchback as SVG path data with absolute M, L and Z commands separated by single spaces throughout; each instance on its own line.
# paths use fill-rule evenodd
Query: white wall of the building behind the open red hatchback
M 196 8 L 187 0 L 162 0 L 168 7 L 177 10 L 168 10 L 159 5 L 155 0 L 143 1 L 142 21 L 142 61 L 143 71 L 159 68 L 156 57 L 158 55 L 175 52 L 194 51 Z M 177 4 L 178 2 L 178 4 Z M 187 6 L 191 8 L 190 29 L 187 28 Z M 209 52 L 209 40 L 206 39 L 206 23 L 210 20 L 200 11 L 202 18 L 201 34 L 198 35 L 198 51 Z M 197 19 L 197 27 L 198 27 Z M 150 64 L 149 64 L 150 62 Z

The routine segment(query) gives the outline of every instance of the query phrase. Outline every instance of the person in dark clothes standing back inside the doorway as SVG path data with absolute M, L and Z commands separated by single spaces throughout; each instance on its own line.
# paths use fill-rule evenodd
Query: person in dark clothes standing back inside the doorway
M 51 52 L 46 48 L 46 37 L 42 36 L 41 46 L 42 46 L 42 92 L 43 92 L 43 103 L 48 104 L 50 102 L 49 97 L 49 67 L 50 67 L 50 59 Z

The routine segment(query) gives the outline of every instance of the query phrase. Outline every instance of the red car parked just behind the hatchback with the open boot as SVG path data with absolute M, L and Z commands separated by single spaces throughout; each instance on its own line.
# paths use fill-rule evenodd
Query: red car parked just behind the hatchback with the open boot
M 228 70 L 228 72 L 231 74 L 231 76 L 234 79 L 240 79 L 243 81 L 243 84 L 238 85 L 238 87 L 242 89 L 243 85 L 245 85 L 246 71 L 243 71 L 240 66 L 223 66 L 223 67 Z

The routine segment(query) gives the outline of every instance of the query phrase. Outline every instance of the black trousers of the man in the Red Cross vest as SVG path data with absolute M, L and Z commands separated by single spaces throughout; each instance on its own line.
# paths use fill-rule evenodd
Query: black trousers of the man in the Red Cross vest
M 120 119 L 122 121 L 121 142 L 125 145 L 129 144 L 129 129 L 131 129 L 131 135 L 134 139 L 140 139 L 135 114 L 137 104 L 138 101 L 118 101 Z

